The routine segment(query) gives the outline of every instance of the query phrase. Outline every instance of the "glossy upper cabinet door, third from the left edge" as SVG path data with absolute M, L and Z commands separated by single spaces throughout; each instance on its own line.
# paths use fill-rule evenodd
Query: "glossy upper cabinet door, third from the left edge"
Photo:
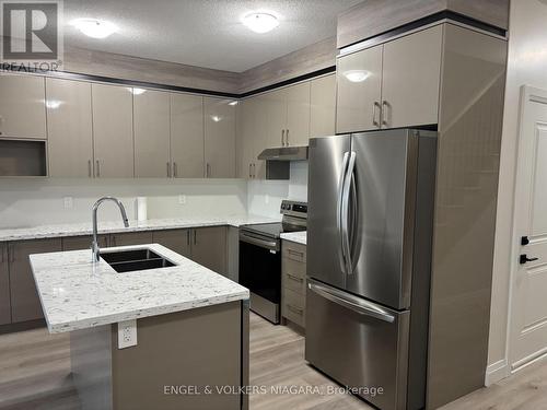
M 92 84 L 95 176 L 133 176 L 132 89 Z

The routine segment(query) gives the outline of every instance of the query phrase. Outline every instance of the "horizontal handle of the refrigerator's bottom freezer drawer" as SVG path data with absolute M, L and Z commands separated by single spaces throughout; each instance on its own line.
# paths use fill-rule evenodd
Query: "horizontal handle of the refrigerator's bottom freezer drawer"
M 318 294 L 319 296 L 325 297 L 326 300 L 344 306 L 350 311 L 353 311 L 360 315 L 374 317 L 375 319 L 387 321 L 389 324 L 393 324 L 395 321 L 394 315 L 372 302 L 368 302 L 365 300 L 347 294 L 346 292 L 341 292 L 337 289 L 318 284 L 310 280 L 307 282 L 307 288 L 310 288 L 312 292 Z

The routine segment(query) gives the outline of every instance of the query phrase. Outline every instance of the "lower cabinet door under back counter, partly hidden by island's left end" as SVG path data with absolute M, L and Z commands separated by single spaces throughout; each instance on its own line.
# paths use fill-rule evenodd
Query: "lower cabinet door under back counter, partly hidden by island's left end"
M 11 321 L 27 321 L 44 317 L 28 256 L 60 251 L 61 239 L 20 241 L 9 244 Z

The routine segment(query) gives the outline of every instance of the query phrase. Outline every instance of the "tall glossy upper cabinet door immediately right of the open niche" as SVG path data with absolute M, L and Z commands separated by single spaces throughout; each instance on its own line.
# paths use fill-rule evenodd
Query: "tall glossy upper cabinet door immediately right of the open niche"
M 46 79 L 49 175 L 93 176 L 91 83 Z

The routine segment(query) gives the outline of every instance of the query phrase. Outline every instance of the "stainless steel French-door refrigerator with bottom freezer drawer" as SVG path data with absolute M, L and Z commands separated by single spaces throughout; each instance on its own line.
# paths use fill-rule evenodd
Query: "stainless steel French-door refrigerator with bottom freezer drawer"
M 310 141 L 305 358 L 383 410 L 424 407 L 435 153 L 424 130 Z

